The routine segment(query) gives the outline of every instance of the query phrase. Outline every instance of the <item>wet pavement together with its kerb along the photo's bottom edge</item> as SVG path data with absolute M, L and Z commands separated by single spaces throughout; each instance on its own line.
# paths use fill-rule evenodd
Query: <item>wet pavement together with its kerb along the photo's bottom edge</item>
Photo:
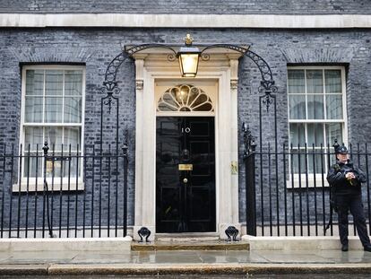
M 0 276 L 13 275 L 9 278 L 290 279 L 300 275 L 306 279 L 349 278 L 349 274 L 353 278 L 369 278 L 371 253 L 363 250 L 0 253 Z

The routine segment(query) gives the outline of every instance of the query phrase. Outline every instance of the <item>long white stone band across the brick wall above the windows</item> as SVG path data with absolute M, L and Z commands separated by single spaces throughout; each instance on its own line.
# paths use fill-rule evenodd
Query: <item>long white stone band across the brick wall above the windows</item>
M 371 28 L 371 15 L 0 13 L 9 27 Z

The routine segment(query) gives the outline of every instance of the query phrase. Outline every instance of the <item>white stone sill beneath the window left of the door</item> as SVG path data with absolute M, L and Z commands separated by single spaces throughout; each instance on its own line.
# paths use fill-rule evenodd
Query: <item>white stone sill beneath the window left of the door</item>
M 20 188 L 21 187 L 21 188 Z M 63 181 L 62 184 L 60 181 L 58 183 L 54 183 L 52 187 L 51 181 L 47 180 L 47 191 L 48 192 L 60 192 L 60 191 L 82 191 L 85 189 L 84 183 L 82 180 L 79 180 L 76 185 L 76 180 L 71 180 L 70 184 L 68 184 L 68 181 Z M 21 186 L 20 184 L 13 184 L 12 187 L 13 193 L 26 193 L 26 192 L 44 192 L 44 183 L 43 179 L 39 179 L 38 184 L 36 184 L 34 181 L 22 181 Z

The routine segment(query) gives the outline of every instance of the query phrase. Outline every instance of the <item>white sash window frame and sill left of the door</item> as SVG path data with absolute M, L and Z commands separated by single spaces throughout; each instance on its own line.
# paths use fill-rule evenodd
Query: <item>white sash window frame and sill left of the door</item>
M 82 122 L 81 123 L 32 123 L 32 124 L 25 124 L 25 100 L 26 100 L 26 72 L 28 70 L 81 70 L 82 71 Z M 65 82 L 65 81 L 64 81 Z M 45 78 L 44 78 L 45 83 Z M 25 141 L 25 134 L 24 134 L 24 127 L 25 126 L 80 126 L 81 127 L 81 143 L 79 147 L 79 153 L 81 156 L 79 162 L 79 177 L 70 177 L 69 182 L 68 178 L 47 178 L 48 190 L 51 191 L 73 191 L 73 190 L 83 190 L 83 150 L 84 150 L 84 119 L 85 119 L 85 83 L 86 83 L 86 67 L 84 65 L 24 65 L 22 67 L 22 106 L 21 106 L 21 126 L 20 126 L 20 143 L 19 143 L 19 150 L 21 151 L 22 145 L 22 156 L 24 156 L 25 152 L 27 152 L 27 146 L 24 145 Z M 64 83 L 64 90 L 65 90 L 65 83 Z M 44 84 L 44 91 L 45 91 L 45 84 Z M 45 103 L 43 108 L 43 113 L 45 112 Z M 42 153 L 42 147 L 44 143 L 39 144 L 40 153 Z M 49 146 L 48 155 L 52 155 L 52 146 Z M 68 156 L 68 147 L 64 151 L 64 156 Z M 43 161 L 41 157 L 40 160 Z M 68 163 L 65 161 L 64 163 Z M 44 180 L 43 177 L 38 178 L 27 178 L 24 177 L 23 171 L 25 167 L 25 157 L 22 158 L 22 173 L 20 174 L 18 171 L 17 177 L 18 181 L 16 184 L 13 184 L 13 192 L 25 192 L 25 191 L 44 191 Z M 42 169 L 44 168 L 44 162 L 41 163 Z M 41 171 L 43 173 L 43 171 Z M 19 176 L 21 175 L 21 178 Z M 62 181 L 61 181 L 62 180 Z M 53 188 L 52 188 L 53 185 Z M 61 188 L 62 187 L 62 188 Z

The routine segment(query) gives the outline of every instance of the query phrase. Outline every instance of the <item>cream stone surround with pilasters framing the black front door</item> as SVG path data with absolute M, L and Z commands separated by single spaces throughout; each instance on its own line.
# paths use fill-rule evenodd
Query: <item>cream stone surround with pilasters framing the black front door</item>
M 135 116 L 135 197 L 134 240 L 138 230 L 147 227 L 150 240 L 156 224 L 156 86 L 190 83 L 213 86 L 215 108 L 216 222 L 221 239 L 225 230 L 238 223 L 237 170 L 237 67 L 241 54 L 230 49 L 211 53 L 209 61 L 200 61 L 193 79 L 180 76 L 177 61 L 168 61 L 166 50 L 147 49 L 134 55 L 136 82 Z M 159 85 L 160 84 L 160 85 Z M 210 84 L 213 84 L 212 86 Z M 169 86 L 170 87 L 170 86 Z M 202 233 L 200 233 L 202 235 Z

